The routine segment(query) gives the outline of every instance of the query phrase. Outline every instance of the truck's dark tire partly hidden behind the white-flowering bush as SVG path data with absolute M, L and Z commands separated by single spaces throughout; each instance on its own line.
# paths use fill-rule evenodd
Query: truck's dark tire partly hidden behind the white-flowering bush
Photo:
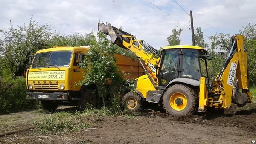
M 77 102 L 78 109 L 81 112 L 84 111 L 87 104 L 91 104 L 93 107 L 97 106 L 97 97 L 92 89 L 84 89 L 81 93 L 81 100 Z

